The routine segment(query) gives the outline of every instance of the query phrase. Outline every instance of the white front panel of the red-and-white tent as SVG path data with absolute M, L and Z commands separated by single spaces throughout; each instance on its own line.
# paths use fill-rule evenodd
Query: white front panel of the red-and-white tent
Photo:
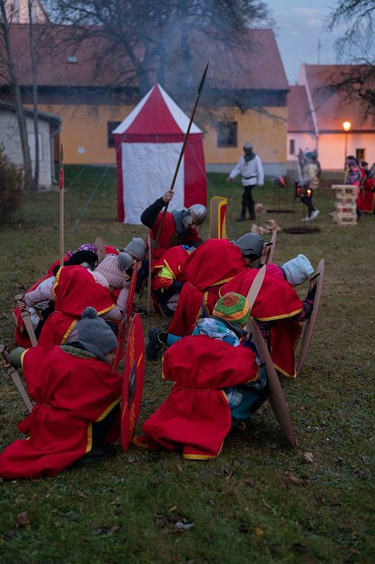
M 140 225 L 142 212 L 171 186 L 182 143 L 122 143 L 124 223 Z M 184 159 L 168 210 L 184 207 Z

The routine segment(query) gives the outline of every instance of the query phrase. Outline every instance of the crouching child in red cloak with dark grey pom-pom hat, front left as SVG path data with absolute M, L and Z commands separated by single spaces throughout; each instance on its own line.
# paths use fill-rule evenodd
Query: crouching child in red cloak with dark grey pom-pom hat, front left
M 76 460 L 113 452 L 120 436 L 123 378 L 111 363 L 117 339 L 93 307 L 82 312 L 77 341 L 49 348 L 18 348 L 11 364 L 23 367 L 32 412 L 18 424 L 27 439 L 0 455 L 4 479 L 52 476 Z

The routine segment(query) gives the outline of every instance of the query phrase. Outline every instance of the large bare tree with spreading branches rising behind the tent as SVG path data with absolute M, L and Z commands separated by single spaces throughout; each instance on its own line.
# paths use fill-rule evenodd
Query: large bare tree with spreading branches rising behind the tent
M 242 51 L 246 59 L 252 52 L 248 27 L 270 23 L 261 0 L 51 0 L 49 6 L 51 19 L 69 24 L 70 43 L 102 39 L 98 73 L 106 61 L 113 68 L 116 54 L 123 64 L 114 84 L 135 85 L 136 79 L 143 95 L 156 80 L 161 85 L 167 81 L 183 107 L 195 95 L 190 81 L 197 59 L 202 69 L 208 51 L 211 56 L 220 50 Z M 245 71 L 236 64 L 237 72 Z

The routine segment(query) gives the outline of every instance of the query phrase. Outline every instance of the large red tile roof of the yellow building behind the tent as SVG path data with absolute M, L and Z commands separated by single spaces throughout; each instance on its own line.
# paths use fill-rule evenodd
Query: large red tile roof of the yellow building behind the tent
M 132 68 L 123 54 L 113 55 L 103 39 L 92 37 L 76 47 L 57 47 L 59 39 L 68 39 L 73 30 L 69 26 L 35 25 L 39 45 L 39 86 L 87 86 L 108 87 L 121 85 L 118 75 Z M 31 85 L 28 26 L 15 24 L 11 27 L 13 49 L 21 85 Z M 210 61 L 207 85 L 220 89 L 271 89 L 288 90 L 283 63 L 272 30 L 247 30 L 240 35 L 242 44 L 252 43 L 252 54 L 240 47 L 232 50 L 217 47 L 207 35 L 197 33 L 192 42 L 192 75 L 200 78 L 206 61 Z M 68 63 L 68 56 L 75 56 L 77 63 Z M 94 59 L 94 60 L 93 60 Z M 101 64 L 102 63 L 102 64 Z M 171 49 L 166 65 L 166 89 L 173 90 L 180 70 L 178 48 Z M 4 69 L 0 68 L 1 71 Z M 1 81 L 1 77 L 0 77 Z M 137 87 L 137 80 L 122 82 Z

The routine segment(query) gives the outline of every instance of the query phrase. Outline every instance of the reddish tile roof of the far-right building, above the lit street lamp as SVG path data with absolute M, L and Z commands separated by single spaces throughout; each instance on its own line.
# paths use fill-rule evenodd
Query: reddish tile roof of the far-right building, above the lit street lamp
M 375 130 L 375 118 L 364 116 L 361 99 L 349 100 L 335 89 L 343 75 L 357 68 L 356 65 L 305 65 L 320 132 L 342 131 L 344 121 L 350 121 L 351 130 Z

